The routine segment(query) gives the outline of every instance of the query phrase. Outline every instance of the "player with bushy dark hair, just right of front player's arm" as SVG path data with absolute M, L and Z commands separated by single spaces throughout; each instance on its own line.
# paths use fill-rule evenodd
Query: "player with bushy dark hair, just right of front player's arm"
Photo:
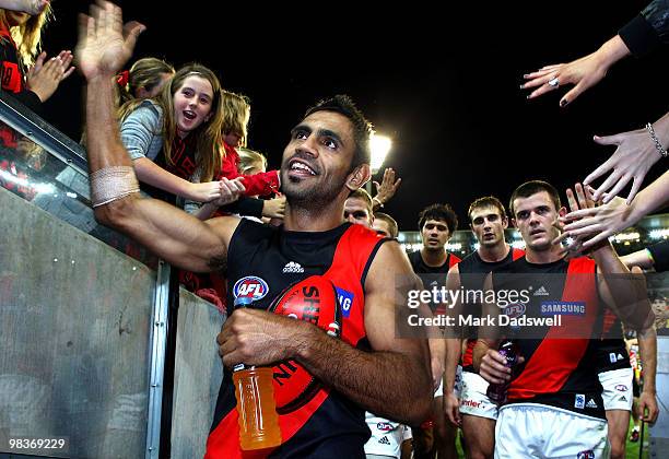
M 423 248 L 420 251 L 409 254 L 409 260 L 413 272 L 423 281 L 425 290 L 435 286 L 446 285 L 446 274 L 448 270 L 460 259 L 446 250 L 446 243 L 458 228 L 458 217 L 448 204 L 432 204 L 423 209 L 419 215 L 419 229 L 423 239 Z M 436 305 L 430 305 L 433 313 L 441 314 L 442 310 Z M 443 346 L 445 362 L 445 341 L 439 343 Z M 439 353 L 433 353 L 432 358 L 437 358 Z M 433 368 L 435 364 L 433 363 Z M 413 428 L 413 444 L 416 458 L 434 458 L 438 454 L 439 458 L 457 457 L 455 448 L 455 437 L 457 428 L 446 422 L 443 403 L 443 380 L 435 393 L 435 404 L 433 409 L 434 433 L 430 423 L 425 423 L 423 429 Z M 424 431 L 424 432 L 423 432 Z M 429 438 L 434 436 L 434 447 L 430 447 Z M 438 450 L 438 452 L 437 452 Z

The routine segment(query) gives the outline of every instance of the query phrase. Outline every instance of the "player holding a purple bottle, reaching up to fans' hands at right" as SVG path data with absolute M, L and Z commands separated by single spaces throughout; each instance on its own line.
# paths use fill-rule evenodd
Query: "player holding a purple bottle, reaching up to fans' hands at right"
M 576 197 L 567 190 L 572 210 L 594 205 L 579 184 Z M 489 274 L 485 290 L 532 292 L 529 302 L 509 315 L 540 318 L 547 305 L 571 308 L 571 313 L 561 315 L 561 326 L 505 329 L 521 356 L 513 373 L 496 351 L 495 337 L 502 330 L 492 326 L 479 330 L 474 368 L 489 382 L 510 381 L 497 416 L 495 457 L 606 457 L 608 427 L 595 365 L 598 340 L 591 338 L 605 305 L 634 328 L 647 328 L 653 320 L 649 307 L 637 310 L 635 306 L 647 296 L 645 285 L 611 282 L 601 275 L 629 273 L 608 240 L 592 251 L 591 259 L 565 261 L 563 248 L 552 242 L 560 232 L 558 217 L 566 209 L 550 184 L 523 184 L 513 192 L 509 208 L 526 243 L 526 256 Z M 497 304 L 485 303 L 483 313 L 494 316 L 498 310 Z M 527 339 L 530 333 L 537 338 Z

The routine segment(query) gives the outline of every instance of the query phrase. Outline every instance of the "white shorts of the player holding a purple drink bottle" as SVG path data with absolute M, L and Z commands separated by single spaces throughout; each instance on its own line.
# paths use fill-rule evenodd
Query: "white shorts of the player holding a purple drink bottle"
M 609 457 L 607 422 L 535 403 L 500 409 L 495 459 Z

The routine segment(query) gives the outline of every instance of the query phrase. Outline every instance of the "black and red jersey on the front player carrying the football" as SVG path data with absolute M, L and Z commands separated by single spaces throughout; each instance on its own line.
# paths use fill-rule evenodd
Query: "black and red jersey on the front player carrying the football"
M 293 283 L 322 275 L 337 290 L 342 309 L 341 339 L 368 350 L 364 326 L 364 283 L 384 239 L 345 223 L 320 233 L 287 232 L 242 220 L 228 247 L 227 304 L 253 295 L 251 307 L 267 309 Z M 280 375 L 274 374 L 278 381 Z M 224 372 L 206 458 L 239 458 L 235 390 Z M 280 414 L 283 444 L 272 457 L 361 457 L 369 437 L 364 410 L 339 392 L 320 387 L 302 408 Z

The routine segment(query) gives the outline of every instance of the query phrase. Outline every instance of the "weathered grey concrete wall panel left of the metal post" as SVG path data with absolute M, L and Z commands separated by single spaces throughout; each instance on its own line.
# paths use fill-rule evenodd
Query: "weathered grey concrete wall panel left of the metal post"
M 0 209 L 0 451 L 143 457 L 155 272 L 1 188 Z

